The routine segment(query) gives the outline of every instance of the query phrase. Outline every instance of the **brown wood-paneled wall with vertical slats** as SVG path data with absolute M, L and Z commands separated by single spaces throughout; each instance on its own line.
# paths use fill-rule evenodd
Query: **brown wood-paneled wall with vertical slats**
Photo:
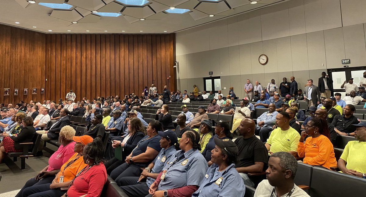
M 175 34 L 42 34 L 0 25 L 0 101 L 141 95 L 152 83 L 176 89 Z M 169 79 L 168 79 L 169 77 Z M 19 88 L 18 96 L 13 96 Z M 23 88 L 38 88 L 23 95 Z M 45 94 L 40 94 L 45 88 Z M 160 91 L 159 91 L 160 92 Z

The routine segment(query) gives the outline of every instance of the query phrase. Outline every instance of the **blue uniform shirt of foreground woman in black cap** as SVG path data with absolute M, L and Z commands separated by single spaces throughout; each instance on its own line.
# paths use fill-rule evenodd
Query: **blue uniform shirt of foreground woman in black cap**
M 192 194 L 193 197 L 244 196 L 244 182 L 238 171 L 235 170 L 235 164 L 230 164 L 221 172 L 218 169 L 217 164 L 212 164 L 208 168 L 201 186 Z

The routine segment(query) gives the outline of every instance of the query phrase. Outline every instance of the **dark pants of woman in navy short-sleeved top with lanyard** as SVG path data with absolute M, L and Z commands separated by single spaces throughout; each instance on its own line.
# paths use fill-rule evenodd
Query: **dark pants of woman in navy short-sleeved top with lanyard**
M 111 172 L 111 178 L 115 180 L 118 186 L 121 186 L 122 180 L 125 177 L 139 177 L 141 175 L 141 172 L 141 166 L 137 166 L 135 164 L 129 165 L 127 163 L 124 163 Z

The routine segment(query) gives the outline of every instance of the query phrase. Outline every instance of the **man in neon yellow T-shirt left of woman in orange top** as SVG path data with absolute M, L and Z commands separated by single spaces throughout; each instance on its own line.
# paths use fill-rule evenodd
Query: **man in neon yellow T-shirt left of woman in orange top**
M 276 126 L 265 144 L 270 154 L 276 152 L 289 152 L 294 157 L 297 156 L 297 145 L 300 134 L 290 127 L 290 115 L 287 112 L 279 112 L 276 115 Z

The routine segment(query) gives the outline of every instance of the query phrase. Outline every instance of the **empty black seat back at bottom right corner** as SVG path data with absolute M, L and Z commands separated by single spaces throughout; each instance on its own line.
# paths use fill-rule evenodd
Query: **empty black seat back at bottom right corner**
M 313 167 L 309 195 L 311 197 L 365 196 L 365 185 L 366 179 L 322 167 Z

